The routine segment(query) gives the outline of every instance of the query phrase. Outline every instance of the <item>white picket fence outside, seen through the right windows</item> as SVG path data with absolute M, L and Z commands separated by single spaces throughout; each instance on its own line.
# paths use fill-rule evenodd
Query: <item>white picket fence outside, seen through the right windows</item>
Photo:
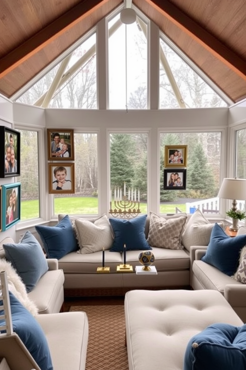
M 245 211 L 245 202 L 237 201 L 237 208 L 241 211 Z M 219 213 L 219 198 L 210 198 L 199 200 L 196 202 L 187 202 L 186 203 L 186 213 L 194 213 L 195 209 L 199 208 L 202 213 Z

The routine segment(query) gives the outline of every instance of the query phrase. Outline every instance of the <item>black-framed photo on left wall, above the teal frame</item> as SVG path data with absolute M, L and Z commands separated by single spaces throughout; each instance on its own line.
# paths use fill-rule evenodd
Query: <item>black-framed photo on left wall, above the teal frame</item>
M 20 176 L 20 132 L 0 126 L 0 178 Z

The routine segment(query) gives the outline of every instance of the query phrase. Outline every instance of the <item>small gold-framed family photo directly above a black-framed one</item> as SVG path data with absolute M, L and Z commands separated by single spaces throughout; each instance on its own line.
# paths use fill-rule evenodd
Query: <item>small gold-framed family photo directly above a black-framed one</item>
M 186 167 L 187 145 L 165 145 L 164 167 Z

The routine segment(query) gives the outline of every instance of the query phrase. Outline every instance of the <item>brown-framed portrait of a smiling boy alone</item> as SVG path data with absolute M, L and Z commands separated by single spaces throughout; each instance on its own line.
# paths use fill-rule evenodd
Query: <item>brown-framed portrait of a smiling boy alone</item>
M 49 193 L 74 194 L 74 163 L 49 163 Z

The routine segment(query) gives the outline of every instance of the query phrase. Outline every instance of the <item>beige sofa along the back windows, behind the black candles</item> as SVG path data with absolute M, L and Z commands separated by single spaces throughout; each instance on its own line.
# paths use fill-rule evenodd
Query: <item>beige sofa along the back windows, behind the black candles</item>
M 179 218 L 180 215 L 175 217 Z M 182 215 L 181 215 L 182 216 Z M 60 216 L 60 219 L 62 216 Z M 71 218 L 74 221 L 73 218 Z M 166 216 L 162 219 L 168 220 Z M 94 222 L 95 219 L 89 219 Z M 148 238 L 150 219 L 146 219 L 145 236 Z M 105 266 L 110 267 L 110 273 L 97 273 L 102 265 L 102 251 L 81 254 L 70 252 L 58 260 L 59 269 L 65 276 L 65 296 L 81 295 L 111 295 L 124 294 L 135 288 L 177 288 L 190 286 L 190 253 L 186 248 L 167 249 L 152 247 L 155 256 L 154 265 L 157 275 L 136 275 L 135 266 L 139 263 L 139 250 L 129 250 L 126 253 L 126 263 L 133 267 L 134 273 L 117 272 L 117 266 L 122 264 L 123 253 L 105 250 Z

